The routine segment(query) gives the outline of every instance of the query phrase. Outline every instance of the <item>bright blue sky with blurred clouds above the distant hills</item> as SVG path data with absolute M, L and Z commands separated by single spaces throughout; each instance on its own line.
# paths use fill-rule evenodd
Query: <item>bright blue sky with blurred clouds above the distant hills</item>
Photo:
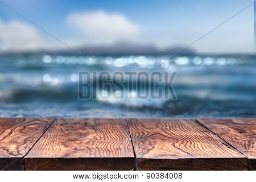
M 117 42 L 123 38 L 125 41 L 134 43 L 155 44 L 160 48 L 176 45 L 186 46 L 253 2 L 249 0 L 2 1 L 5 1 L 11 7 L 64 42 L 71 44 L 71 46 L 81 44 L 107 44 Z M 108 24 L 102 27 L 98 24 L 92 25 L 93 22 L 89 20 L 89 22 L 83 22 L 86 17 L 103 17 L 104 20 L 109 20 L 114 34 L 118 34 L 118 36 L 114 37 L 114 35 L 110 35 L 108 38 L 105 35 L 101 37 L 104 30 L 109 30 L 110 34 L 112 32 L 111 27 L 108 27 Z M 113 20 L 112 22 L 113 17 L 115 17 L 116 21 Z M 7 32 L 10 31 L 11 27 L 17 27 L 19 29 L 21 26 L 19 23 L 19 26 L 11 26 L 10 22 L 13 21 L 28 26 L 27 28 L 23 27 L 23 30 L 31 31 L 34 36 L 30 38 L 30 35 L 25 34 L 24 38 L 27 37 L 27 40 L 31 40 L 31 42 L 34 40 L 43 42 L 42 45 L 44 46 L 63 46 L 22 16 L 0 3 L 0 23 L 2 22 L 3 27 L 2 37 L 5 37 L 5 41 L 2 42 L 10 44 L 7 47 L 11 48 L 12 44 L 14 44 L 6 39 L 9 36 Z M 98 23 L 101 24 L 101 22 Z M 121 25 L 122 23 L 123 27 Z M 82 27 L 83 24 L 86 24 L 87 27 Z M 119 29 L 116 28 L 117 26 Z M 92 28 L 88 29 L 88 27 Z M 131 31 L 127 30 L 129 28 L 131 28 Z M 3 32 L 3 30 L 7 32 Z M 21 32 L 20 34 L 22 34 Z M 93 32 L 97 32 L 97 34 L 93 34 Z M 123 35 L 121 32 L 123 32 Z M 21 38 L 17 39 L 17 42 L 22 45 L 23 40 Z M 14 41 L 15 39 L 12 38 L 11 40 Z M 217 28 L 217 30 L 213 31 L 204 39 L 193 44 L 192 47 L 202 53 L 252 52 L 253 6 L 250 6 L 223 26 Z

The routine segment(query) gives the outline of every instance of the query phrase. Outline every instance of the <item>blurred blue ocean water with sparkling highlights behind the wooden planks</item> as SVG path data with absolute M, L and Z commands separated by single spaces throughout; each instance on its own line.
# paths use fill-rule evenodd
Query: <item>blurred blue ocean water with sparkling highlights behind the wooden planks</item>
M 0 117 L 256 117 L 255 56 L 175 56 L 164 62 L 169 57 L 0 55 Z M 108 91 L 101 86 L 90 93 L 95 99 L 78 99 L 81 71 L 148 72 L 157 65 L 154 71 L 177 73 L 175 100 L 128 98 L 155 89 L 150 82 L 130 90 L 130 80 L 121 90 L 125 97 L 118 100 L 102 99 L 100 93 Z

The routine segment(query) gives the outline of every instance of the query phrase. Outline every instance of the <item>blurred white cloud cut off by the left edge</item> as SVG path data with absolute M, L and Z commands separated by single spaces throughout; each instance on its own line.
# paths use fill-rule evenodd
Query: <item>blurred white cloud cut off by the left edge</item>
M 0 49 L 2 50 L 34 50 L 45 44 L 34 27 L 13 20 L 2 22 L 0 20 Z

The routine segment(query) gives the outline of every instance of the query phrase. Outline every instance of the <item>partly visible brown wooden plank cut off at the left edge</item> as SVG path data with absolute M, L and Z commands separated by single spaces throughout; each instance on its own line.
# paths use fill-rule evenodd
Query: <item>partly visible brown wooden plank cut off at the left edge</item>
M 0 118 L 0 170 L 23 170 L 23 156 L 53 119 Z

